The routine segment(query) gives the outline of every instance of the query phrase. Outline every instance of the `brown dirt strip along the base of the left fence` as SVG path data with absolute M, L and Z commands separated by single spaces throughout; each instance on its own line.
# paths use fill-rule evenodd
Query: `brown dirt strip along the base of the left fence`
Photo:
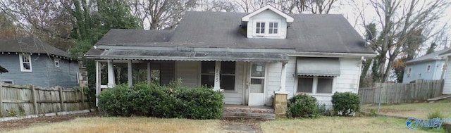
M 51 122 L 62 122 L 75 118 L 87 118 L 97 116 L 97 113 L 78 113 L 70 115 L 42 116 L 39 118 L 29 118 L 22 120 L 8 120 L 0 122 L 0 132 L 29 127 L 31 125 L 41 125 Z

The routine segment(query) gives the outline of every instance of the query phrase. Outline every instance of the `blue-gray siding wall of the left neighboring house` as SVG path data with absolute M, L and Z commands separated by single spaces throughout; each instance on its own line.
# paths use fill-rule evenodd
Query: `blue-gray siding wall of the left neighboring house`
M 0 54 L 0 64 L 9 72 L 2 73 L 0 79 L 14 84 L 33 84 L 39 87 L 78 86 L 78 62 L 60 59 L 60 66 L 54 65 L 54 57 L 47 54 L 32 54 L 32 72 L 21 72 L 18 54 Z

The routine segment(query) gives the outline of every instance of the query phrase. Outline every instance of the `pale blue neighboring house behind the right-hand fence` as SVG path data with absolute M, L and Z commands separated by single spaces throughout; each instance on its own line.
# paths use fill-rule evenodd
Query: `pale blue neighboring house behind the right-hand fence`
M 429 53 L 411 61 L 405 62 L 404 77 L 402 83 L 415 80 L 440 80 L 445 75 L 445 57 L 443 53 L 450 49 L 443 49 Z

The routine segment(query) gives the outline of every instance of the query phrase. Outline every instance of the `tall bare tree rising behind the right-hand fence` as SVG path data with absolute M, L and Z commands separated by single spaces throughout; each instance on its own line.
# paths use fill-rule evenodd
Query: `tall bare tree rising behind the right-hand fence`
M 369 46 L 376 51 L 377 56 L 373 58 L 371 66 L 365 65 L 364 70 L 372 69 L 371 75 L 375 82 L 386 82 L 395 59 L 405 54 L 406 48 L 416 49 L 417 46 L 411 45 L 417 44 L 410 42 L 419 34 L 424 36 L 424 40 L 431 37 L 433 34 L 425 34 L 423 30 L 435 28 L 431 25 L 443 16 L 444 9 L 451 3 L 446 0 L 371 0 L 370 4 L 378 19 L 374 22 L 376 29 L 381 32 L 373 34 L 369 40 Z M 365 75 L 366 72 L 362 73 L 362 77 Z

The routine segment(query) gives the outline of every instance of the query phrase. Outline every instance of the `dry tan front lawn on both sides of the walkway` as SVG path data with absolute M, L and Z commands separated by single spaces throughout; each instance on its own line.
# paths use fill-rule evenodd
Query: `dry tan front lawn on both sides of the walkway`
M 65 122 L 40 122 L 8 132 L 224 132 L 221 126 L 221 120 L 95 117 L 76 118 Z M 261 122 L 260 128 L 263 132 L 283 133 L 426 132 L 422 129 L 407 129 L 405 120 L 385 117 L 279 118 Z M 445 132 L 443 128 L 434 131 Z

